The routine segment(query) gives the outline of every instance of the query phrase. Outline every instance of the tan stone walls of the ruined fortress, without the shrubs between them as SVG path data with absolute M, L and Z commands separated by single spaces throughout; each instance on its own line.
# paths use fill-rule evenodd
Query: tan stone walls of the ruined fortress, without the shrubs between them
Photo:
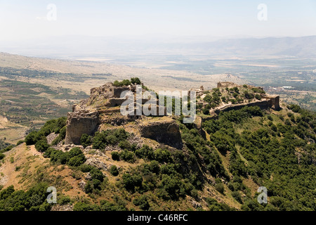
M 218 88 L 230 88 L 233 86 L 239 85 L 231 82 L 219 82 L 217 85 Z M 65 144 L 80 144 L 82 134 L 93 135 L 96 131 L 103 129 L 104 124 L 117 127 L 134 122 L 140 136 L 154 139 L 159 143 L 165 143 L 174 148 L 182 148 L 183 143 L 180 137 L 179 126 L 171 116 L 155 118 L 146 117 L 145 115 L 121 115 L 120 106 L 126 101 L 126 98 L 121 98 L 123 91 L 132 91 L 136 94 L 136 85 L 114 86 L 109 82 L 103 86 L 91 89 L 89 98 L 77 105 L 73 105 L 72 112 L 67 115 Z M 197 96 L 204 94 L 203 86 L 192 88 L 190 91 L 195 91 Z M 211 109 L 210 114 L 213 115 L 213 118 L 216 118 L 220 111 L 239 109 L 245 105 L 258 105 L 260 108 L 279 110 L 279 96 L 261 94 L 261 97 L 260 101 L 221 105 Z M 144 98 L 141 102 L 144 104 L 147 101 L 148 99 Z M 157 102 L 157 107 L 164 106 L 159 106 Z

